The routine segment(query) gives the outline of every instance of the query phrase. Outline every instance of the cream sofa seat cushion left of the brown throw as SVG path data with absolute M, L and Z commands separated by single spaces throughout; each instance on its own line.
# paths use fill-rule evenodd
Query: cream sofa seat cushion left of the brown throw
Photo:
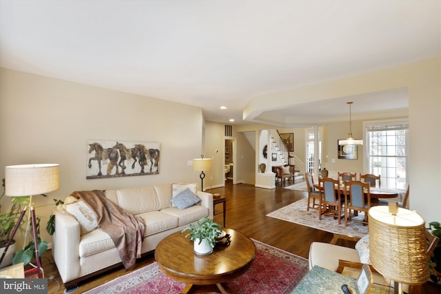
M 112 248 L 115 248 L 115 244 L 110 235 L 96 229 L 81 237 L 78 250 L 80 258 L 85 258 Z

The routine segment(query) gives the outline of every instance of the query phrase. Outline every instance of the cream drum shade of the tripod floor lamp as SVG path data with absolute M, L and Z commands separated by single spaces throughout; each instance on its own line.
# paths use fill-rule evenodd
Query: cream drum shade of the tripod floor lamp
M 60 187 L 60 165 L 10 165 L 5 167 L 5 195 L 33 196 Z

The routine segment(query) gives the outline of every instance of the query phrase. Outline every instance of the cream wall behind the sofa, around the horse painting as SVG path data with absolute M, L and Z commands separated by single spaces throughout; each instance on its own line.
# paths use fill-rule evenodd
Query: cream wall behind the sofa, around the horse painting
M 37 206 L 76 190 L 196 182 L 187 160 L 201 156 L 202 133 L 199 107 L 0 69 L 0 178 L 7 165 L 60 164 L 59 191 L 34 197 Z M 160 143 L 159 174 L 86 180 L 92 139 Z M 44 224 L 53 208 L 37 207 Z

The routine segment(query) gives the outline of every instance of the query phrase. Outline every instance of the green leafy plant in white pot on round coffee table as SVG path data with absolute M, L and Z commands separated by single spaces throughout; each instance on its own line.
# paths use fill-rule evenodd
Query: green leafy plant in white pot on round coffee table
M 222 233 L 220 224 L 214 222 L 211 218 L 201 218 L 194 224 L 189 224 L 181 233 L 187 231 L 185 238 L 194 243 L 194 253 L 198 255 L 207 255 L 213 252 L 216 245 L 216 238 Z

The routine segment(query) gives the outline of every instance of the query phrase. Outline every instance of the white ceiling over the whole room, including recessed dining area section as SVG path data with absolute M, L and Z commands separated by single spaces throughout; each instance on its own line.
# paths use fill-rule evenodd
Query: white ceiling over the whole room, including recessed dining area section
M 0 66 L 197 105 L 207 120 L 243 123 L 254 96 L 441 56 L 440 3 L 0 0 Z M 290 125 L 342 121 L 347 101 L 353 119 L 408 107 L 401 89 L 263 116 Z

